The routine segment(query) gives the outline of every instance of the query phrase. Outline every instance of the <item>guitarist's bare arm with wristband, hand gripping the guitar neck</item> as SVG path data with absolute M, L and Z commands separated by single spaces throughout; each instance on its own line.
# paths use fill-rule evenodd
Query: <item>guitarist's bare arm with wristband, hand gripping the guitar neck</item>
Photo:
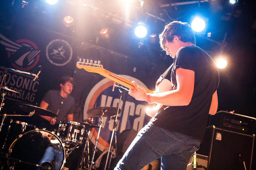
M 135 90 L 130 90 L 129 94 L 137 100 L 147 101 L 149 96 L 151 103 L 160 103 L 165 106 L 185 106 L 191 101 L 194 91 L 194 71 L 177 68 L 176 69 L 177 89 L 162 93 L 149 94 L 138 87 L 133 81 Z

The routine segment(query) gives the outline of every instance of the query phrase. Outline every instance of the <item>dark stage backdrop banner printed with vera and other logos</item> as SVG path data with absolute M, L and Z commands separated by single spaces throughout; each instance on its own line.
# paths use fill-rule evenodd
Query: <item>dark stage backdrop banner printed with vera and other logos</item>
M 7 98 L 15 102 L 25 102 L 39 105 L 43 95 L 48 90 L 58 90 L 59 79 L 63 75 L 73 76 L 75 86 L 71 95 L 75 98 L 76 122 L 87 119 L 87 111 L 94 107 L 117 107 L 120 91 L 114 82 L 97 74 L 76 68 L 79 58 L 100 61 L 106 70 L 121 75 L 128 80 L 135 80 L 150 90 L 155 89 L 155 81 L 165 71 L 170 63 L 162 64 L 162 68 L 154 67 L 148 57 L 126 56 L 97 45 L 83 42 L 69 36 L 59 34 L 47 28 L 30 24 L 17 23 L 10 27 L 1 26 L 0 30 L 0 66 L 26 72 L 38 72 L 42 66 L 39 78 L 33 81 L 33 76 L 27 76 L 7 69 L 4 84 L 20 94 L 9 92 Z M 159 64 L 159 63 L 158 63 Z M 0 79 L 3 78 L 3 68 L 0 69 Z M 160 71 L 159 71 L 160 70 Z M 6 101 L 7 102 L 7 101 Z M 139 131 L 150 119 L 145 115 L 146 102 L 136 101 L 127 92 L 121 100 L 121 113 L 117 126 L 117 137 L 126 129 Z M 102 151 L 108 148 L 114 120 L 103 118 L 103 129 L 100 132 L 98 148 Z M 99 125 L 99 118 L 95 124 Z M 110 122 L 109 122 L 110 121 Z M 90 139 L 95 142 L 98 129 L 93 129 Z

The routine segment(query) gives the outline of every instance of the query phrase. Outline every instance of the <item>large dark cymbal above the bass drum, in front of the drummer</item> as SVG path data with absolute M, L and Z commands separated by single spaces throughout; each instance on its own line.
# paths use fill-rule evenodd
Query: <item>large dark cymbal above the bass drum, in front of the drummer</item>
M 50 116 L 50 117 L 58 117 L 57 114 L 52 113 L 49 110 L 39 108 L 37 106 L 24 104 L 24 103 L 15 103 L 15 108 L 20 109 L 24 112 L 32 112 L 35 110 L 35 114 L 42 115 L 42 116 Z

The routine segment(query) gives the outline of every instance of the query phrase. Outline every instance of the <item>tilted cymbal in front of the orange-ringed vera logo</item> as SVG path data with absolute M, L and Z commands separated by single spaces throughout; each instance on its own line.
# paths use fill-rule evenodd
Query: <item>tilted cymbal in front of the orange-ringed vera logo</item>
M 104 112 L 103 117 L 109 117 L 113 116 L 117 113 L 117 108 L 115 107 L 97 107 L 97 108 L 91 108 L 87 111 L 87 114 L 92 117 L 101 117 L 102 113 Z M 121 112 L 121 109 L 119 109 L 119 112 Z

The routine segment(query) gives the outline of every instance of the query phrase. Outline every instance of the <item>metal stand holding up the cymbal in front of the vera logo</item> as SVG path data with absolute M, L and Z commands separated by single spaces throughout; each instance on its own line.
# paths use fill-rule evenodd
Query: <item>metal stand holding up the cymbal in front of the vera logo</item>
M 91 118 L 91 122 L 89 122 L 89 123 L 92 124 L 92 122 L 93 122 L 93 117 Z M 89 136 L 90 136 L 90 133 L 91 133 L 91 129 L 89 129 L 89 131 L 88 131 L 88 135 L 87 135 L 87 138 L 86 138 L 86 143 L 85 143 L 85 146 L 84 146 L 83 154 L 81 155 L 81 158 L 80 158 L 81 161 L 79 163 L 79 166 L 80 166 L 80 168 L 78 168 L 79 170 L 86 169 L 86 165 L 85 165 L 85 162 L 86 162 L 86 147 L 87 147 L 87 160 L 88 160 L 87 165 L 88 165 L 88 169 L 90 168 L 90 164 L 89 164 L 89 160 L 90 160 Z

